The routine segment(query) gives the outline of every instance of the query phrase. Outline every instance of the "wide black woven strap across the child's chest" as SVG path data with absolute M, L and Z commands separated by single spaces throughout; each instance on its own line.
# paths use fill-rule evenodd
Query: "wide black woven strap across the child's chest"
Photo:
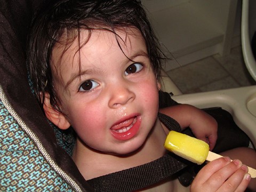
M 88 180 L 94 191 L 134 191 L 158 183 L 186 167 L 172 154 L 153 162 Z

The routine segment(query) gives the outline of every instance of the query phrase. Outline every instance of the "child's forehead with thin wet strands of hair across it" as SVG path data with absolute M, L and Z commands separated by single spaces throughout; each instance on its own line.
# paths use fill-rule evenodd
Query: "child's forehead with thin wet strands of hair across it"
M 61 41 L 53 47 L 51 67 L 58 77 L 61 77 L 61 71 L 67 66 L 78 70 L 77 64 L 81 63 L 81 57 L 89 60 L 103 59 L 109 50 L 118 51 L 128 58 L 137 51 L 147 54 L 145 41 L 136 28 L 120 28 L 115 31 L 82 29 L 75 37 L 74 33 L 70 34 L 63 34 Z

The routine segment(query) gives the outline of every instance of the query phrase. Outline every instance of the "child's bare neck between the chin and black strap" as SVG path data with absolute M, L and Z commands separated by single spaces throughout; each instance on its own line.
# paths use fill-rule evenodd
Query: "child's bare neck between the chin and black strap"
M 101 153 L 87 147 L 77 139 L 73 159 L 86 180 L 105 174 L 129 169 L 162 157 L 166 151 L 163 147 L 166 132 L 157 118 L 156 124 L 148 135 L 143 146 L 134 153 L 118 156 Z

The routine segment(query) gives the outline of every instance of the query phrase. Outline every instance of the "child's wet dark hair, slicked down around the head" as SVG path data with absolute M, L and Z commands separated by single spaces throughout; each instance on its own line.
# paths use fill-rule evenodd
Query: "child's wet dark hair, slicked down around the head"
M 140 1 L 61 0 L 51 1 L 41 8 L 32 23 L 27 47 L 29 74 L 38 101 L 43 103 L 41 95 L 48 92 L 51 104 L 60 110 L 52 81 L 51 55 L 56 43 L 63 44 L 63 34 L 72 43 L 79 36 L 80 29 L 89 30 L 89 34 L 93 29 L 111 30 L 115 33 L 116 29 L 126 27 L 134 27 L 140 31 L 145 39 L 151 66 L 159 77 L 161 59 L 165 56 Z M 87 41 L 89 38 L 90 35 Z

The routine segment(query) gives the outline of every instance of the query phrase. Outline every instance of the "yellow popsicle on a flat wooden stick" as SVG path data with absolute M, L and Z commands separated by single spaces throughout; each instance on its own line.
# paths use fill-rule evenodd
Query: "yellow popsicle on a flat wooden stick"
M 190 137 L 189 135 L 170 131 L 164 143 L 164 147 L 172 153 L 179 155 L 198 165 L 207 161 L 222 157 L 209 151 L 209 145 L 199 139 Z M 256 178 L 256 170 L 248 167 L 248 173 L 252 178 Z

